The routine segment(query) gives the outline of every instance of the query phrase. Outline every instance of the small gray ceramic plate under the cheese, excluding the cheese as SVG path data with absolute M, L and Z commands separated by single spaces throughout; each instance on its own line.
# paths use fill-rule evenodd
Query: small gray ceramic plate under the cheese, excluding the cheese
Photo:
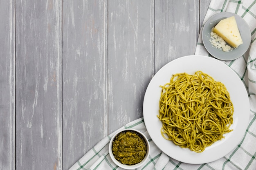
M 238 46 L 238 48 L 233 49 L 232 51 L 224 52 L 220 49 L 216 49 L 211 44 L 211 42 L 209 41 L 209 39 L 211 38 L 210 33 L 211 29 L 216 26 L 220 22 L 220 20 L 229 18 L 231 16 L 235 16 L 236 18 L 236 23 L 238 25 L 238 29 L 243 40 L 243 44 Z M 251 43 L 251 31 L 247 22 L 245 22 L 245 20 L 239 15 L 230 12 L 221 12 L 213 15 L 211 18 L 209 18 L 209 20 L 207 20 L 207 22 L 205 22 L 202 30 L 202 40 L 205 48 L 213 57 L 216 57 L 219 60 L 235 60 L 238 57 L 244 55 L 249 48 L 249 45 Z

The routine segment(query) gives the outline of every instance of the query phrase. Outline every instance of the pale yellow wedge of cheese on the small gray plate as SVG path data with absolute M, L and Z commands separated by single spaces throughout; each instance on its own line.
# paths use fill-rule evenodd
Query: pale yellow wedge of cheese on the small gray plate
M 213 28 L 213 32 L 218 34 L 229 45 L 237 48 L 243 44 L 240 32 L 238 30 L 235 16 L 220 20 L 220 22 Z

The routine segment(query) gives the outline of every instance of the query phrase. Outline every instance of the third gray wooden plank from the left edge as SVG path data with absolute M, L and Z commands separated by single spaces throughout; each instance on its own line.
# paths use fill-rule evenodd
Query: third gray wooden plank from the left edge
M 108 135 L 108 2 L 63 2 L 63 169 Z

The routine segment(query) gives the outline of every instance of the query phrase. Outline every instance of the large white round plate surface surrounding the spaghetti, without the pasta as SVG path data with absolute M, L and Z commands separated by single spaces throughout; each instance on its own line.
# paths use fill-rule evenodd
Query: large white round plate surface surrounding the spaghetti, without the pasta
M 162 91 L 160 85 L 170 82 L 175 73 L 194 74 L 196 71 L 207 73 L 216 81 L 225 84 L 234 104 L 234 122 L 230 127 L 233 131 L 201 153 L 181 148 L 164 139 L 161 135 L 162 122 L 157 117 Z M 169 62 L 155 74 L 146 89 L 143 116 L 151 139 L 166 155 L 185 163 L 209 163 L 227 155 L 242 140 L 249 121 L 249 98 L 243 82 L 229 66 L 213 57 L 189 55 Z

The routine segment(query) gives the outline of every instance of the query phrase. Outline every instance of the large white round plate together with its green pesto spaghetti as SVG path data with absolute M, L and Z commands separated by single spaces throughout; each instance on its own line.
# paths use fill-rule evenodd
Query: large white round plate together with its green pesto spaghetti
M 151 139 L 166 155 L 184 163 L 209 163 L 242 140 L 249 98 L 225 63 L 189 55 L 155 74 L 146 89 L 143 116 Z

